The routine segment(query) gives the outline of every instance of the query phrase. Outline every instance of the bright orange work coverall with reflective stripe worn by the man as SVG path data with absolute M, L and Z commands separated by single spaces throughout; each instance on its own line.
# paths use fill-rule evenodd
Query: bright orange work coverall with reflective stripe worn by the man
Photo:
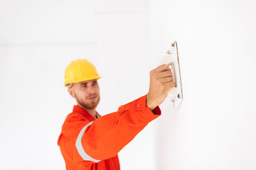
M 66 169 L 119 170 L 117 153 L 159 115 L 159 106 L 154 111 L 146 106 L 146 96 L 96 120 L 74 106 L 58 138 Z

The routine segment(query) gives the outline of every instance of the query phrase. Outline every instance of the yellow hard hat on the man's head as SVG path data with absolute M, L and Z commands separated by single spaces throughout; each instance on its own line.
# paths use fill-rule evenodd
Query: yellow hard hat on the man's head
M 95 66 L 87 60 L 75 60 L 70 62 L 65 69 L 65 86 L 70 83 L 100 78 Z

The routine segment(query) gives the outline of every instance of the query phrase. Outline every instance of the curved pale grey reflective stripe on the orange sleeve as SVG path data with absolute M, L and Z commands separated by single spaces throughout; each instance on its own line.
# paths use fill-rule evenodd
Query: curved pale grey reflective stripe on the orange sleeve
M 84 159 L 85 161 L 92 161 L 92 162 L 100 162 L 101 160 L 97 160 L 97 159 L 93 159 L 92 157 L 90 157 L 88 154 L 85 153 L 85 150 L 82 148 L 82 135 L 85 132 L 85 129 L 92 125 L 93 122 L 88 123 L 87 125 L 85 125 L 84 128 L 82 128 L 82 130 L 80 131 L 79 135 L 78 135 L 78 139 L 75 142 L 75 147 L 78 149 L 78 153 L 80 154 L 80 156 L 82 157 L 82 159 Z

